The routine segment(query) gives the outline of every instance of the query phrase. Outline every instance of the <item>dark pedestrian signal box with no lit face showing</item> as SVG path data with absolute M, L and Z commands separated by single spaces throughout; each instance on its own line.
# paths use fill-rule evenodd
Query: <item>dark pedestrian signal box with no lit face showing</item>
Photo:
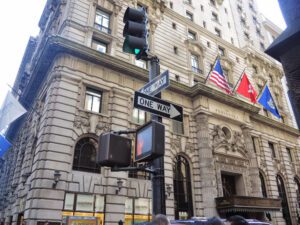
M 99 138 L 97 163 L 101 166 L 126 167 L 131 162 L 131 139 L 105 133 Z

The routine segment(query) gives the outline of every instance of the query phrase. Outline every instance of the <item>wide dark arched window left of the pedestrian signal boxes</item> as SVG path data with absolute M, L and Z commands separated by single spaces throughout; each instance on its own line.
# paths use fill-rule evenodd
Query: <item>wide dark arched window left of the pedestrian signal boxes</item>
M 73 170 L 100 173 L 96 164 L 98 143 L 92 137 L 81 138 L 75 146 Z

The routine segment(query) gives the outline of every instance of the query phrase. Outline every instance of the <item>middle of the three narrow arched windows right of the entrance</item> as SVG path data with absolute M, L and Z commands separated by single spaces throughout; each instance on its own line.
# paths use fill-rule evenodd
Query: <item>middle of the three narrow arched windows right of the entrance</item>
M 281 176 L 277 175 L 276 181 L 277 181 L 279 197 L 281 198 L 283 218 L 285 219 L 287 225 L 291 225 L 292 222 L 291 222 L 290 210 L 289 210 L 283 179 Z

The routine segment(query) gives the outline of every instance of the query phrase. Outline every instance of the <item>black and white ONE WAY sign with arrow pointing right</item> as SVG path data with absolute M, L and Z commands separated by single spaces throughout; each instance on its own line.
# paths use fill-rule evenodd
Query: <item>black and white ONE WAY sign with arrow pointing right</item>
M 159 98 L 142 94 L 137 91 L 134 93 L 134 107 L 182 122 L 183 111 L 181 106 L 163 101 Z

